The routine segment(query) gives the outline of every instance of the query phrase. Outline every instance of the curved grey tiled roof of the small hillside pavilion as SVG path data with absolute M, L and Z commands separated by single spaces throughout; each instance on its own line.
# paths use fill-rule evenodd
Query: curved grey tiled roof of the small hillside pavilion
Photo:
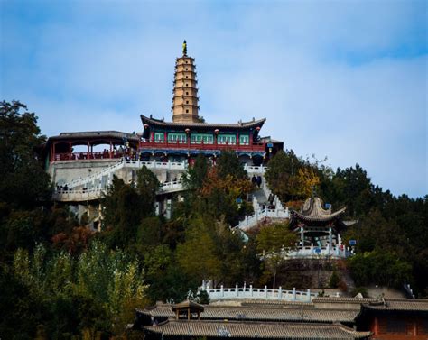
M 342 207 L 340 210 L 332 213 L 327 209 L 324 209 L 321 204 L 320 198 L 308 198 L 303 204 L 301 211 L 292 210 L 293 219 L 302 219 L 310 222 L 328 222 L 334 218 L 342 215 L 346 210 L 346 207 Z

